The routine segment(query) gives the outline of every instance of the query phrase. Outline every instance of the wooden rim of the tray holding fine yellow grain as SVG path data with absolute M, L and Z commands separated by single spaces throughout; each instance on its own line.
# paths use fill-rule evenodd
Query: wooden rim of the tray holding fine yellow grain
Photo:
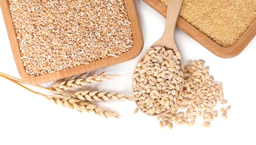
M 164 6 L 158 0 L 143 0 L 150 7 L 155 9 L 162 16 L 166 17 L 167 7 Z M 190 23 L 186 22 L 183 18 L 179 17 L 177 21 L 177 27 L 179 27 L 182 31 L 187 33 L 190 37 L 192 37 L 195 41 L 198 41 L 201 45 L 203 45 L 206 49 L 211 51 L 214 55 L 223 57 L 223 58 L 231 58 L 239 55 L 248 43 L 253 39 L 256 35 L 256 20 L 253 21 L 252 25 L 250 25 L 246 31 L 241 35 L 239 40 L 230 47 L 223 47 L 218 45 L 211 38 L 207 37 L 199 31 L 194 26 L 190 25 Z

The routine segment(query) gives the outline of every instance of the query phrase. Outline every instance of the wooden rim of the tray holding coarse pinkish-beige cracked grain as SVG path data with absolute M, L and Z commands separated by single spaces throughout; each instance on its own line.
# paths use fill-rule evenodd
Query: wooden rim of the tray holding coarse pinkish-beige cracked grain
M 49 81 L 60 80 L 63 78 L 67 78 L 69 76 L 74 76 L 74 75 L 82 74 L 88 71 L 97 70 L 102 67 L 107 67 L 107 66 L 111 66 L 121 62 L 125 62 L 128 60 L 134 59 L 136 56 L 138 56 L 143 48 L 143 43 L 144 43 L 143 36 L 140 30 L 135 2 L 134 0 L 132 1 L 125 0 L 125 7 L 127 9 L 129 20 L 131 22 L 132 37 L 134 41 L 132 45 L 132 49 L 130 51 L 127 51 L 121 54 L 120 57 L 118 58 L 108 57 L 106 59 L 100 59 L 97 61 L 90 62 L 89 65 L 80 65 L 80 66 L 72 67 L 70 69 L 57 71 L 51 74 L 31 76 L 26 73 L 25 67 L 23 66 L 23 62 L 21 60 L 19 43 L 17 41 L 15 27 L 13 26 L 13 23 L 12 23 L 8 0 L 1 0 L 0 6 L 2 9 L 4 22 L 6 24 L 6 29 L 8 32 L 8 37 L 11 43 L 12 52 L 16 62 L 17 69 L 19 71 L 21 78 L 31 84 L 43 84 Z

